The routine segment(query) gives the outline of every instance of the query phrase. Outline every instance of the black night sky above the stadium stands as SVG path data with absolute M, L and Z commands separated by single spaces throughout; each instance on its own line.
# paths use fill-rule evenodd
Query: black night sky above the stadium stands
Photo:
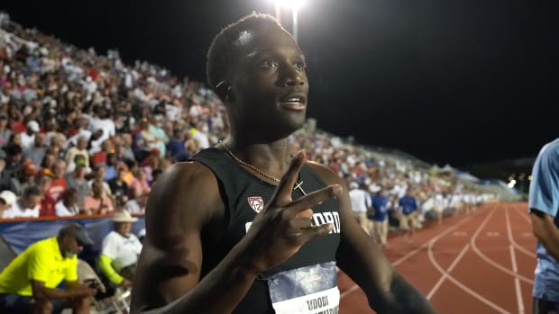
M 307 0 L 299 13 L 318 128 L 466 166 L 559 137 L 559 3 Z M 206 49 L 271 0 L 5 1 L 15 22 L 205 80 Z M 283 12 L 290 30 L 290 13 Z

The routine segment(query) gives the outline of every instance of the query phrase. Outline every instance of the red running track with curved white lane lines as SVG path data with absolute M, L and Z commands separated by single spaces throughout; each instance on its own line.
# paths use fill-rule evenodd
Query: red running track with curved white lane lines
M 438 313 L 531 313 L 536 238 L 526 202 L 484 204 L 389 246 L 385 256 Z M 346 274 L 338 285 L 340 313 L 374 313 Z

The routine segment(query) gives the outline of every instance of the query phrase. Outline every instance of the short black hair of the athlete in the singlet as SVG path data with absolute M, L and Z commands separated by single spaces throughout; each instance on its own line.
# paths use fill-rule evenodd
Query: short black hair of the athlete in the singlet
M 234 41 L 241 31 L 261 30 L 266 26 L 285 29 L 273 16 L 263 13 L 252 13 L 239 21 L 225 26 L 217 35 L 207 50 L 206 78 L 207 84 L 215 90 L 216 85 L 229 75 L 230 64 L 237 52 Z

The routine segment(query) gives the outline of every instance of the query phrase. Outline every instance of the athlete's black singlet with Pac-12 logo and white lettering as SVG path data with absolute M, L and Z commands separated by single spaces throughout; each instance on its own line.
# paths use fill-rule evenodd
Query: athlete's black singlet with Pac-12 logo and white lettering
M 257 213 L 256 210 L 261 210 L 263 206 L 268 204 L 277 186 L 252 175 L 225 152 L 217 148 L 202 150 L 192 157 L 192 160 L 207 166 L 215 174 L 229 219 L 225 235 L 217 245 L 221 249 L 215 250 L 217 252 L 215 255 L 204 256 L 202 276 L 205 276 L 244 237 L 247 223 L 252 222 Z M 303 182 L 302 188 L 306 193 L 314 192 L 326 186 L 307 165 L 304 165 L 299 173 L 298 182 L 301 181 Z M 303 196 L 303 193 L 298 189 L 293 192 L 293 200 L 297 200 L 301 196 Z M 261 274 L 259 279 L 252 284 L 252 288 L 243 301 L 234 310 L 235 314 L 274 313 L 267 283 L 267 278 L 270 275 L 299 267 L 335 261 L 335 253 L 340 243 L 340 220 L 337 203 L 334 200 L 329 200 L 316 206 L 313 211 L 315 212 L 313 225 L 331 222 L 334 225 L 334 230 L 324 237 L 310 240 L 289 260 L 270 269 L 265 274 Z

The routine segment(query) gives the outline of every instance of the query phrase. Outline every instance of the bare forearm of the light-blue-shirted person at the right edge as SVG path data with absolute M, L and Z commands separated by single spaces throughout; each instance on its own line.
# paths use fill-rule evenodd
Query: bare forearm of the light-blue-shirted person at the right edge
M 532 231 L 547 252 L 559 261 L 559 229 L 555 227 L 554 217 L 536 209 L 530 210 Z

